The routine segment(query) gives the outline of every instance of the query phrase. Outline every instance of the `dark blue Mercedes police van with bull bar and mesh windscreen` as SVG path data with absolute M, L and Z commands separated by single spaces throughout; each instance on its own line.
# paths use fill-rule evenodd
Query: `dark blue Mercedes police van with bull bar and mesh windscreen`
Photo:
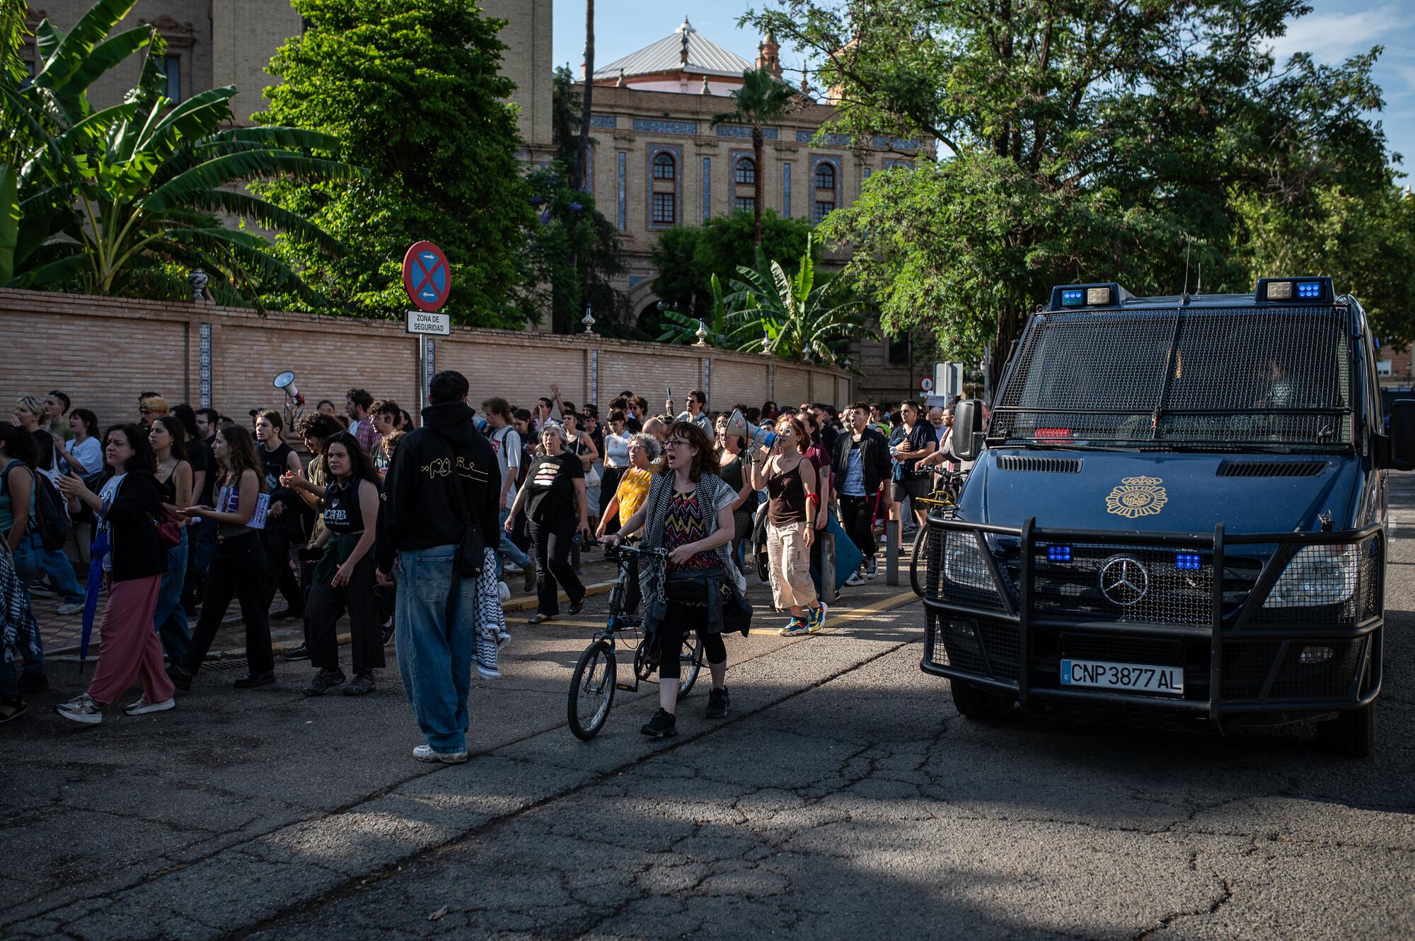
M 1316 722 L 1370 753 L 1415 401 L 1387 430 L 1365 312 L 1330 278 L 1056 287 L 954 435 L 976 463 L 928 520 L 921 665 L 961 714 Z

